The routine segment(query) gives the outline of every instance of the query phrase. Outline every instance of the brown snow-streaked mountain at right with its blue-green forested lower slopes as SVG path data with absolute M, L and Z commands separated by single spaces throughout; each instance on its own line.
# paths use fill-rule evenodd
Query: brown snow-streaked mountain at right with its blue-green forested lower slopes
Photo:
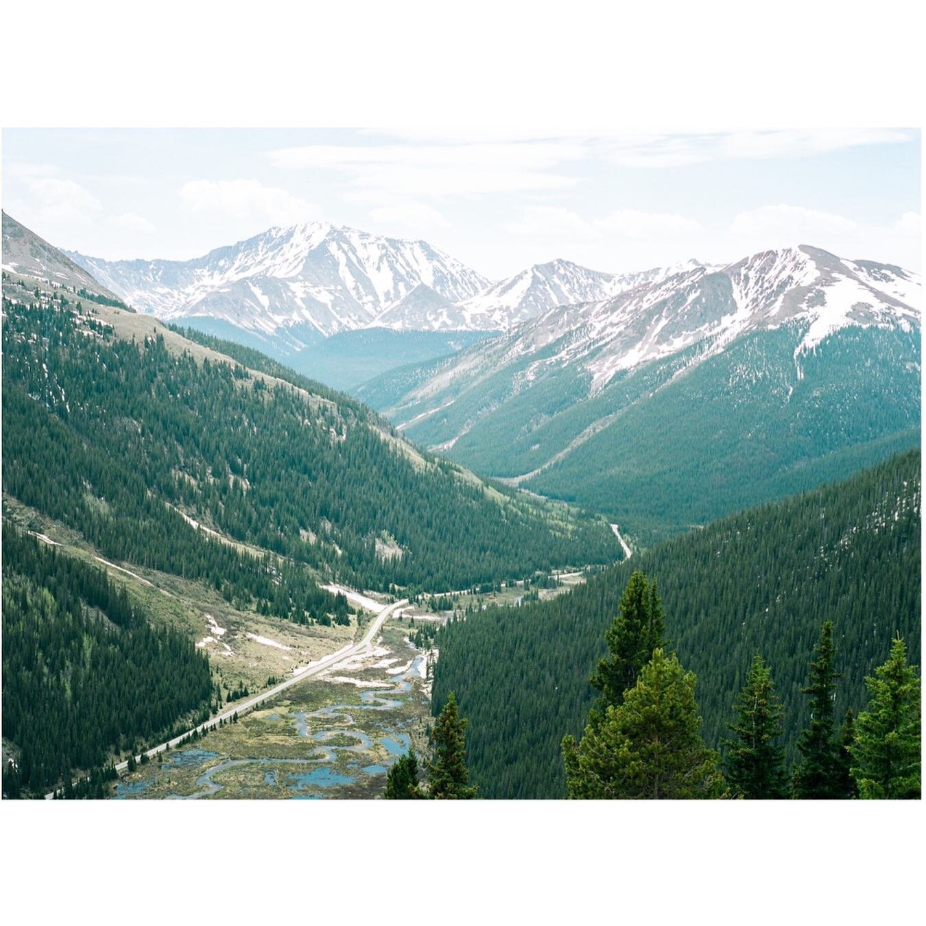
M 413 440 L 651 543 L 917 444 L 920 281 L 764 252 L 551 309 L 357 394 Z

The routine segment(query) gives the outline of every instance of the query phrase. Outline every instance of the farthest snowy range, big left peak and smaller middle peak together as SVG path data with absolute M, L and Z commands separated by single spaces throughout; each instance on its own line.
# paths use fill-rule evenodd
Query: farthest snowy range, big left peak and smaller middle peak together
M 550 308 L 600 301 L 673 272 L 619 276 L 553 260 L 491 282 L 426 242 L 326 222 L 272 228 L 187 261 L 67 253 L 145 313 L 226 322 L 289 338 L 296 348 L 363 328 L 504 331 Z

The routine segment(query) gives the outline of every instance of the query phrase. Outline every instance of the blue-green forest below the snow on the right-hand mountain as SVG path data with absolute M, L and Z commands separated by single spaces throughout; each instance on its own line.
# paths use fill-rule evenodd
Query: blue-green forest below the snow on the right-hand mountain
M 651 544 L 920 443 L 919 329 L 846 328 L 799 368 L 794 337 L 750 335 L 671 381 L 682 357 L 649 371 L 649 394 L 645 377 L 616 383 L 614 422 L 525 484 Z M 625 405 L 624 388 L 644 392 Z

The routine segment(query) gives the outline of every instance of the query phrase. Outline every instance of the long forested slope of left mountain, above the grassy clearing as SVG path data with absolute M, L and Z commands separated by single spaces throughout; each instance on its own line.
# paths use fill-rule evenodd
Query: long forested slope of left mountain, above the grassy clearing
M 603 519 L 419 455 L 295 374 L 119 340 L 65 294 L 4 311 L 4 490 L 113 557 L 302 619 L 331 604 L 319 575 L 444 591 L 619 556 Z

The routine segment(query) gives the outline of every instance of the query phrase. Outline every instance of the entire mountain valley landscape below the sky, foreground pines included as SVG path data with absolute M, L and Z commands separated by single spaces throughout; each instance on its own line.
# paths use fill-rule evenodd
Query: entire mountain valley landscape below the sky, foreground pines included
M 920 299 L 4 213 L 5 796 L 919 796 Z

